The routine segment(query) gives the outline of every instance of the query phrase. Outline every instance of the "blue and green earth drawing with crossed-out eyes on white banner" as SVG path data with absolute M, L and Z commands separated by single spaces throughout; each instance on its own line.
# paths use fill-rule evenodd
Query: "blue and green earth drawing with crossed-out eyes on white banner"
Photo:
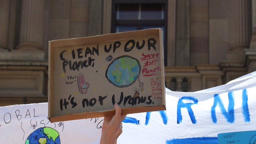
M 60 144 L 59 132 L 50 127 L 43 127 L 32 132 L 25 144 Z

